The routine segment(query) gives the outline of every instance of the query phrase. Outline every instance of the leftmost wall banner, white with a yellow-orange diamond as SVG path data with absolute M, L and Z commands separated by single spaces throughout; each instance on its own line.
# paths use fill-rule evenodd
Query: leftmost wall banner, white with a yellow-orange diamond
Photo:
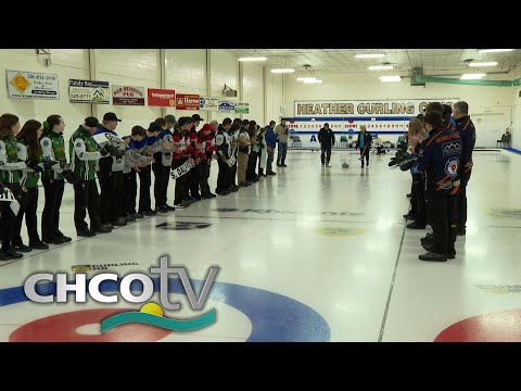
M 9 98 L 60 99 L 58 75 L 5 71 Z

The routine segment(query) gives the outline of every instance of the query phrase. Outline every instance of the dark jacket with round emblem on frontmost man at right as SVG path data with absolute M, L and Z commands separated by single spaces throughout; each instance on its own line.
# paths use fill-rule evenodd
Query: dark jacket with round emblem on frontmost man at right
M 456 194 L 459 189 L 461 138 L 444 126 L 432 129 L 418 152 L 418 171 L 427 175 L 427 190 Z

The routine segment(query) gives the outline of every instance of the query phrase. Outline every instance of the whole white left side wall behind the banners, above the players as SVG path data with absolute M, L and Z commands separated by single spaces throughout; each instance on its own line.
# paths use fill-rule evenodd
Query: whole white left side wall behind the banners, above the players
M 28 119 L 45 121 L 50 114 L 60 114 L 66 124 L 66 133 L 77 129 L 89 115 L 98 116 L 113 111 L 123 122 L 118 125 L 118 134 L 128 134 L 134 125 L 148 127 L 163 114 L 176 117 L 192 115 L 194 111 L 180 111 L 153 106 L 124 106 L 111 104 L 86 104 L 68 102 L 68 79 L 94 79 L 113 85 L 125 85 L 147 88 L 162 88 L 161 51 L 158 49 L 51 49 L 52 65 L 45 66 L 46 55 L 38 56 L 34 49 L 7 49 L 0 51 L 0 72 L 5 70 L 27 71 L 58 74 L 60 100 L 47 101 L 35 99 L 11 99 L 8 93 L 0 94 L 2 113 L 13 113 L 21 118 L 23 125 Z M 211 68 L 207 72 L 206 55 L 209 54 Z M 90 59 L 90 55 L 92 58 Z M 92 70 L 90 62 L 93 64 Z M 239 79 L 239 62 L 236 56 L 219 49 L 166 49 L 165 50 L 164 88 L 175 89 L 179 93 L 196 93 L 224 98 L 225 84 L 236 90 L 242 87 L 244 99 L 250 101 L 251 114 L 264 125 L 265 117 L 278 117 L 274 108 L 282 104 L 280 83 L 281 76 L 269 74 L 270 97 L 264 86 L 264 65 L 246 64 L 243 80 Z M 208 80 L 209 77 L 209 91 Z M 229 98 L 228 98 L 229 99 Z M 239 98 L 233 99 L 239 100 Z M 269 114 L 266 111 L 269 110 Z M 221 121 L 234 113 L 200 111 L 205 119 Z M 277 119 L 277 118 L 276 118 Z

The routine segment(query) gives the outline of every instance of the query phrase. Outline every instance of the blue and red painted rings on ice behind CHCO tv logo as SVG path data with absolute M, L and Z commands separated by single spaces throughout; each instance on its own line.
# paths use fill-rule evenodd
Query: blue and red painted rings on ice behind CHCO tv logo
M 158 278 L 152 279 L 154 282 L 154 291 L 158 291 L 160 283 Z M 200 292 L 202 288 L 202 280 L 191 280 L 195 292 Z M 134 285 L 136 282 L 136 285 Z M 100 283 L 100 292 L 116 292 L 118 291 L 118 282 L 105 280 Z M 130 285 L 130 290 L 141 290 L 141 286 L 138 281 L 134 281 Z M 42 295 L 53 294 L 55 292 L 55 283 L 39 283 L 38 293 Z M 181 281 L 178 278 L 168 279 L 168 292 L 186 294 Z M 331 338 L 331 330 L 326 319 L 309 306 L 282 294 L 270 292 L 264 289 L 246 287 L 242 285 L 217 282 L 215 281 L 208 299 L 216 302 L 220 302 L 242 312 L 252 324 L 252 332 L 247 337 L 246 342 L 328 342 Z M 0 290 L 0 312 L 4 305 L 13 305 L 28 301 L 24 293 L 23 287 L 8 288 Z M 45 305 L 45 304 L 40 304 Z M 105 311 L 105 312 L 102 312 Z M 29 338 L 28 332 L 34 332 L 30 337 L 31 340 L 45 340 L 45 338 L 55 338 L 48 330 L 49 325 L 54 325 L 51 328 L 58 328 L 56 320 L 60 320 L 63 328 L 63 321 L 69 320 L 71 325 L 67 326 L 66 336 L 81 336 L 82 340 L 89 340 L 89 338 L 103 337 L 92 335 L 79 335 L 77 329 L 90 324 L 101 323 L 102 318 L 111 316 L 117 312 L 127 310 L 120 308 L 104 308 L 104 310 L 85 310 L 78 312 L 69 312 L 64 314 L 58 314 L 48 316 L 41 319 L 29 321 L 26 325 L 21 326 L 13 331 L 10 336 L 10 340 L 21 340 Z M 72 316 L 72 314 L 75 314 Z M 217 320 L 218 321 L 218 320 Z M 47 325 L 47 326 L 46 326 Z M 143 340 L 157 341 L 170 333 L 169 330 L 162 330 L 152 327 L 154 330 L 148 330 L 143 326 L 145 325 L 126 325 L 126 326 L 140 326 L 139 329 L 128 329 L 125 336 L 128 337 L 127 341 Z M 125 326 L 120 326 L 125 327 Z M 141 335 L 136 337 L 136 332 Z M 166 332 L 166 335 L 164 335 Z M 110 331 L 106 336 L 110 335 Z M 66 336 L 62 336 L 61 340 L 68 340 Z M 73 339 L 75 340 L 75 339 Z M 118 339 L 122 340 L 122 339 Z

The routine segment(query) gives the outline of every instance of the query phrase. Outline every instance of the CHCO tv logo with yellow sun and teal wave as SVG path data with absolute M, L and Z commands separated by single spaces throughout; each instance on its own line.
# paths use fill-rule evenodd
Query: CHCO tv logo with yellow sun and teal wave
M 128 323 L 140 323 L 152 325 L 161 328 L 165 328 L 171 331 L 193 331 L 203 327 L 209 326 L 215 323 L 215 310 L 211 310 L 203 315 L 193 318 L 174 319 L 165 317 L 163 308 L 170 311 L 180 310 L 180 303 L 170 303 L 168 300 L 168 275 L 177 274 L 181 280 L 185 292 L 187 293 L 188 301 L 193 311 L 201 311 L 206 303 L 209 290 L 215 281 L 215 277 L 219 272 L 218 267 L 211 267 L 206 274 L 206 279 L 199 293 L 199 298 L 195 295 L 192 283 L 185 267 L 169 267 L 168 256 L 162 256 L 160 258 L 160 267 L 151 267 L 151 274 L 160 274 L 160 302 L 161 305 L 155 303 L 145 303 L 154 294 L 154 283 L 152 279 L 140 273 L 128 274 L 120 280 L 118 286 L 119 293 L 124 300 L 129 303 L 145 303 L 141 306 L 140 311 L 128 311 L 116 314 L 104 319 L 101 323 L 101 332 L 109 331 L 110 329 Z M 42 295 L 37 292 L 37 282 L 48 280 L 55 281 L 56 289 L 54 294 Z M 25 295 L 35 303 L 66 303 L 67 292 L 74 292 L 74 301 L 76 303 L 85 303 L 87 301 L 87 292 L 90 298 L 99 303 L 117 303 L 118 295 L 103 294 L 100 292 L 100 285 L 103 281 L 118 280 L 118 276 L 114 273 L 103 273 L 92 277 L 87 285 L 86 274 L 76 274 L 75 281 L 67 281 L 66 273 L 58 273 L 55 276 L 50 273 L 38 273 L 29 276 L 24 283 Z M 140 281 L 142 285 L 142 291 L 139 294 L 135 294 L 131 291 L 130 285 L 134 281 Z

